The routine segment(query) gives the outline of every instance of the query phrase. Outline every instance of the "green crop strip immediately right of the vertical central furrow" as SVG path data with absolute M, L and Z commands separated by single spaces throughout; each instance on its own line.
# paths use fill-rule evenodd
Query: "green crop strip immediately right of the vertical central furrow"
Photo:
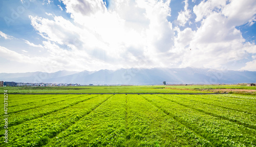
M 138 95 L 127 95 L 125 146 L 209 146 L 210 142 Z

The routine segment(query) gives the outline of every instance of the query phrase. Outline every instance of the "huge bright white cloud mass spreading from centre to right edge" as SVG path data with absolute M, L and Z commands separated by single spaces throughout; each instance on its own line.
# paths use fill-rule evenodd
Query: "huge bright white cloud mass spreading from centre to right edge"
M 179 26 L 173 28 L 166 19 L 171 14 L 169 0 L 113 0 L 108 9 L 100 0 L 64 0 L 72 19 L 50 13 L 47 18 L 31 15 L 32 26 L 46 41 L 41 45 L 25 42 L 47 50 L 45 64 L 55 70 L 188 66 L 220 69 L 256 52 L 255 45 L 246 42 L 236 28 L 254 23 L 254 10 L 238 8 L 234 5 L 238 1 L 226 2 L 202 1 L 193 9 L 193 20 L 185 0 L 184 11 L 177 18 Z M 249 0 L 245 3 L 255 6 Z M 232 9 L 238 10 L 229 12 Z M 234 17 L 240 11 L 248 16 Z M 201 26 L 179 28 L 191 21 L 201 22 Z M 250 65 L 248 62 L 245 66 Z

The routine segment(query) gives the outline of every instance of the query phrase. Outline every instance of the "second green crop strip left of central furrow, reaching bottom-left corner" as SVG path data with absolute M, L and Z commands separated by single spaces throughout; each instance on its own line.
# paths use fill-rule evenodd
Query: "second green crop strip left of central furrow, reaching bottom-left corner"
M 12 135 L 8 137 L 8 146 L 44 145 L 50 138 L 67 129 L 111 97 L 111 95 L 90 96 L 94 98 L 62 109 L 61 111 L 39 117 L 38 119 L 10 127 L 8 132 L 11 132 Z M 85 98 L 88 99 L 87 97 Z M 0 146 L 4 145 L 3 139 L 1 137 Z

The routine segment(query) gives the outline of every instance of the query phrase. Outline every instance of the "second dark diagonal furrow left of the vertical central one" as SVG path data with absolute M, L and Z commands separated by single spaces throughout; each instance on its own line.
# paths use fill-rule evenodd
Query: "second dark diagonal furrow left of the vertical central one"
M 80 96 L 80 97 L 81 97 L 81 96 Z M 95 97 L 98 97 L 98 96 L 95 96 Z M 77 97 L 76 97 L 76 98 L 77 98 Z M 84 100 L 81 100 L 81 101 L 78 101 L 78 102 L 69 104 L 69 105 L 67 105 L 67 106 L 60 107 L 59 109 L 55 109 L 55 110 L 52 110 L 52 111 L 48 111 L 47 113 L 34 116 L 34 117 L 30 118 L 29 120 L 22 120 L 22 121 L 19 121 L 19 122 L 15 122 L 15 124 L 12 124 L 11 126 L 17 126 L 17 125 L 22 124 L 22 123 L 25 123 L 25 122 L 27 122 L 27 121 L 32 121 L 32 120 L 38 119 L 38 118 L 40 118 L 40 117 L 42 117 L 42 116 L 46 116 L 46 115 L 49 115 L 49 114 L 51 114 L 51 113 L 60 111 L 60 110 L 62 110 L 62 109 L 66 109 L 66 108 L 68 108 L 68 107 L 72 107 L 72 106 L 74 106 L 74 105 L 76 105 L 76 104 L 82 103 L 82 102 L 87 101 L 87 100 L 90 100 L 90 99 L 92 99 L 92 98 L 94 98 L 94 97 L 90 97 L 89 99 L 84 99 Z M 65 100 L 64 100 L 64 101 L 65 101 Z M 4 127 L 2 127 L 2 128 L 4 128 Z

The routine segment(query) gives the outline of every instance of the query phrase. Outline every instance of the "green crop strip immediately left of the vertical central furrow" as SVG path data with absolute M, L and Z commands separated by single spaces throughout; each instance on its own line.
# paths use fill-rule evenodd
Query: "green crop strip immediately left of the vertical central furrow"
M 125 100 L 125 95 L 114 95 L 46 146 L 122 146 Z

